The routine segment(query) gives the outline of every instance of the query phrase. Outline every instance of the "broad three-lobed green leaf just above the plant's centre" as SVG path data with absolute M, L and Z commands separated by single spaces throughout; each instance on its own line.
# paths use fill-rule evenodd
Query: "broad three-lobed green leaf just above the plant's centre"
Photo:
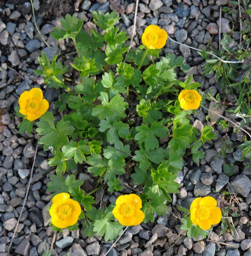
M 102 105 L 98 105 L 92 110 L 93 116 L 98 116 L 100 120 L 110 117 L 113 114 L 116 116 L 125 116 L 124 111 L 128 107 L 128 104 L 124 102 L 123 97 L 120 95 L 114 96 L 109 102 L 108 94 L 101 92 L 98 99 L 102 101 Z

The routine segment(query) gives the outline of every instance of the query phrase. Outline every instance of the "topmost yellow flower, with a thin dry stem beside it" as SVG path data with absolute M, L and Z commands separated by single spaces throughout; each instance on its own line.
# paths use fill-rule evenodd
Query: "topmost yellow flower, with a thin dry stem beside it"
M 166 43 L 167 32 L 156 25 L 150 25 L 145 28 L 141 39 L 148 49 L 161 49 Z

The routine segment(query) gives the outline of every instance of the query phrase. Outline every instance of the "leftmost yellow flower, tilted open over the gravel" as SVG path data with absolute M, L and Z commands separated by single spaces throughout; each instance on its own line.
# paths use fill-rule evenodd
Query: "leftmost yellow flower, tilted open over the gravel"
M 20 105 L 20 113 L 25 116 L 29 121 L 35 119 L 46 113 L 49 108 L 49 103 L 43 99 L 43 92 L 39 88 L 32 88 L 29 91 L 24 91 L 18 100 Z

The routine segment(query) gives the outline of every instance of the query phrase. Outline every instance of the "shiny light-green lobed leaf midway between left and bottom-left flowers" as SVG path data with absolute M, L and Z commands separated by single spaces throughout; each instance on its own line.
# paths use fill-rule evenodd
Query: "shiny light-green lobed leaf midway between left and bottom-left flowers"
M 83 163 L 86 161 L 85 154 L 90 154 L 90 147 L 87 141 L 80 140 L 78 142 L 71 140 L 68 145 L 62 147 L 62 151 L 67 158 L 74 157 L 75 163 Z

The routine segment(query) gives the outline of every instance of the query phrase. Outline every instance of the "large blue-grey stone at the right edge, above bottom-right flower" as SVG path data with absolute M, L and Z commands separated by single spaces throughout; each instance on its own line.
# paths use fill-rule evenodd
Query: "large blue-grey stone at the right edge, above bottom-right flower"
M 251 180 L 246 175 L 237 175 L 237 177 L 232 180 L 230 184 L 234 191 L 243 197 L 247 197 L 251 191 Z

